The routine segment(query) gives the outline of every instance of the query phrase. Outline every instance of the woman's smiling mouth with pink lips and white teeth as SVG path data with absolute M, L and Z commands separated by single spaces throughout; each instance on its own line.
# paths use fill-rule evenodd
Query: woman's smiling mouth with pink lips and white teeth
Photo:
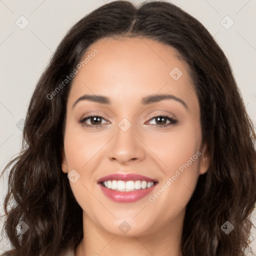
M 139 174 L 115 173 L 97 181 L 101 191 L 115 202 L 134 202 L 150 193 L 157 180 Z

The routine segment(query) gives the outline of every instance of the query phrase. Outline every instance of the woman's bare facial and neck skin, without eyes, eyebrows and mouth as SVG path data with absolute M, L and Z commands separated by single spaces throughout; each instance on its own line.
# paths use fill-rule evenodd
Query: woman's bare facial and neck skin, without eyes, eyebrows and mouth
M 66 106 L 62 171 L 79 173 L 74 183 L 69 182 L 83 210 L 84 238 L 75 256 L 126 256 L 131 251 L 133 256 L 181 255 L 186 204 L 209 164 L 188 66 L 173 47 L 148 38 L 102 38 L 85 55 L 94 48 L 99 52 L 76 74 Z M 169 75 L 173 67 L 183 73 L 177 80 Z M 156 93 L 175 95 L 188 109 L 173 99 L 141 104 L 142 97 Z M 110 104 L 81 100 L 72 108 L 83 94 L 107 96 Z M 79 123 L 88 113 L 102 116 L 97 120 L 102 126 Z M 170 121 L 157 122 L 153 114 L 168 115 L 177 122 L 161 127 Z M 118 126 L 123 118 L 131 124 L 127 131 Z M 93 119 L 85 122 L 92 124 Z M 158 198 L 149 201 L 149 195 L 197 151 L 200 156 Z M 116 172 L 138 173 L 157 179 L 158 184 L 138 201 L 114 202 L 96 180 Z M 131 227 L 125 234 L 118 228 L 123 221 Z

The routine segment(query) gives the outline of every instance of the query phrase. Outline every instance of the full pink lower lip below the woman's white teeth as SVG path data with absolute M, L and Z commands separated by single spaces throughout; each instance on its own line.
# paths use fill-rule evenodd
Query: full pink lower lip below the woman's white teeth
M 98 185 L 100 186 L 105 196 L 115 202 L 135 202 L 149 194 L 154 189 L 156 184 L 157 183 L 145 189 L 137 189 L 134 191 L 116 191 L 114 189 L 106 188 L 100 183 Z

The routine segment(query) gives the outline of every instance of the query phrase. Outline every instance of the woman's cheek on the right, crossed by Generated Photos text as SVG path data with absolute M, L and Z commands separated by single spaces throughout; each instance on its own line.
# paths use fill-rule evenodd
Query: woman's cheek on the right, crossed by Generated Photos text
M 164 214 L 170 217 L 186 206 L 197 183 L 201 155 L 200 126 L 180 126 L 180 129 L 162 135 L 154 142 L 150 146 L 160 159 L 163 178 L 149 201 L 158 209 L 165 208 Z

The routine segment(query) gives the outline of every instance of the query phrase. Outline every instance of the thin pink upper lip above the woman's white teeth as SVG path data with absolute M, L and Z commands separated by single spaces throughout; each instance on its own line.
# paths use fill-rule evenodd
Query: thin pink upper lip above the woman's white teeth
M 106 175 L 102 178 L 99 178 L 97 180 L 97 183 L 103 182 L 103 181 L 107 181 L 107 180 L 123 180 L 123 181 L 128 181 L 128 180 L 145 180 L 147 182 L 157 182 L 156 179 L 153 178 L 149 178 L 140 174 L 136 174 L 136 173 L 127 173 L 127 174 L 123 174 L 123 173 L 113 173 L 110 175 Z

